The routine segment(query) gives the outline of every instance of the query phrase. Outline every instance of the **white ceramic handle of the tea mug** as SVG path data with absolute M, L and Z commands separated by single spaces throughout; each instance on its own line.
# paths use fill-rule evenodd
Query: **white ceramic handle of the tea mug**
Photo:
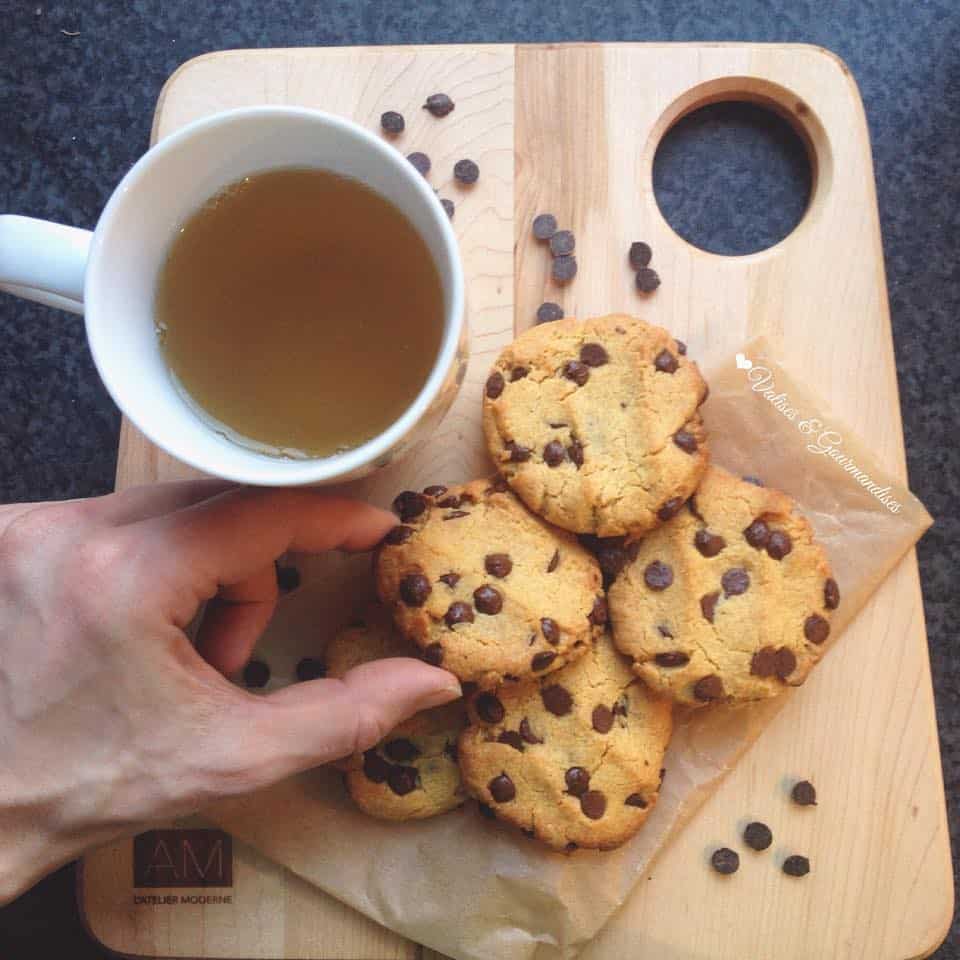
M 0 290 L 83 313 L 83 275 L 93 234 L 49 220 L 0 216 Z

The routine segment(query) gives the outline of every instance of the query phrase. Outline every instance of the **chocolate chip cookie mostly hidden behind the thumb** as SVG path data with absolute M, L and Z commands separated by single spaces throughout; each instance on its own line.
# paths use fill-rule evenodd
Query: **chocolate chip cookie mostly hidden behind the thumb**
M 341 631 L 327 645 L 327 675 L 342 677 L 361 663 L 416 656 L 383 614 Z M 457 737 L 466 723 L 462 700 L 422 710 L 364 754 L 339 766 L 353 802 L 384 820 L 422 820 L 466 799 L 457 767 Z

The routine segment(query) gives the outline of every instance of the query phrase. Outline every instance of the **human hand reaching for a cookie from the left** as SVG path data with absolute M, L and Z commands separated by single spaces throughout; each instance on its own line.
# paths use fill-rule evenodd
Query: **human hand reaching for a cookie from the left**
M 369 663 L 254 696 L 247 661 L 286 550 L 365 550 L 395 523 L 303 490 L 195 480 L 0 507 L 0 903 L 85 849 L 364 750 L 460 695 Z M 208 604 L 197 638 L 184 628 Z

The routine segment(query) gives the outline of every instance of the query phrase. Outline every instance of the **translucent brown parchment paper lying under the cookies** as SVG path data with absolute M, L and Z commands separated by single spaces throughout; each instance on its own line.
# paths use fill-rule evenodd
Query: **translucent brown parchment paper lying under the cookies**
M 840 584 L 837 636 L 930 516 L 787 374 L 763 340 L 705 369 L 711 395 L 703 413 L 713 458 L 799 502 Z M 308 606 L 310 591 L 302 590 L 297 602 Z M 309 619 L 309 610 L 304 614 Z M 281 647 L 279 655 L 289 658 L 289 638 Z M 271 655 L 269 647 L 265 653 Z M 829 658 L 818 669 L 830 669 Z M 329 769 L 221 803 L 208 817 L 327 893 L 450 957 L 572 956 L 789 695 L 678 718 L 659 803 L 640 834 L 610 853 L 548 852 L 481 818 L 472 803 L 433 820 L 379 822 L 352 807 Z

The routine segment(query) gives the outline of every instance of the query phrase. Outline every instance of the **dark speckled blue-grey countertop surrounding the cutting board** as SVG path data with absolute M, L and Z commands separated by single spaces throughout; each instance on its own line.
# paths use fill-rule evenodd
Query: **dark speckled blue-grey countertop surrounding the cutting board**
M 960 620 L 955 587 L 960 523 L 953 510 L 960 475 L 960 444 L 953 438 L 960 421 L 960 7 L 955 0 L 336 5 L 0 0 L 0 210 L 91 226 L 112 186 L 147 146 L 163 81 L 184 60 L 209 50 L 512 40 L 808 42 L 838 53 L 859 82 L 873 135 L 911 485 L 937 519 L 919 553 L 956 841 L 960 662 L 951 644 Z M 694 151 L 702 151 L 702 163 L 711 149 L 709 125 L 701 134 L 694 131 L 689 139 Z M 773 149 L 772 162 L 784 162 L 776 153 Z M 749 175 L 749 170 L 708 170 L 700 187 L 703 205 L 679 198 L 675 225 L 697 231 L 715 249 L 734 247 L 742 241 L 743 225 L 722 215 L 722 198 L 731 185 L 739 182 L 742 189 Z M 779 182 L 764 189 L 782 189 Z M 707 209 L 721 214 L 705 221 Z M 760 239 L 775 234 L 774 227 L 761 225 Z M 109 490 L 118 425 L 79 319 L 0 294 L 0 501 Z M 0 911 L 0 956 L 104 956 L 81 932 L 71 876 L 61 871 Z M 956 925 L 936 956 L 960 958 Z

